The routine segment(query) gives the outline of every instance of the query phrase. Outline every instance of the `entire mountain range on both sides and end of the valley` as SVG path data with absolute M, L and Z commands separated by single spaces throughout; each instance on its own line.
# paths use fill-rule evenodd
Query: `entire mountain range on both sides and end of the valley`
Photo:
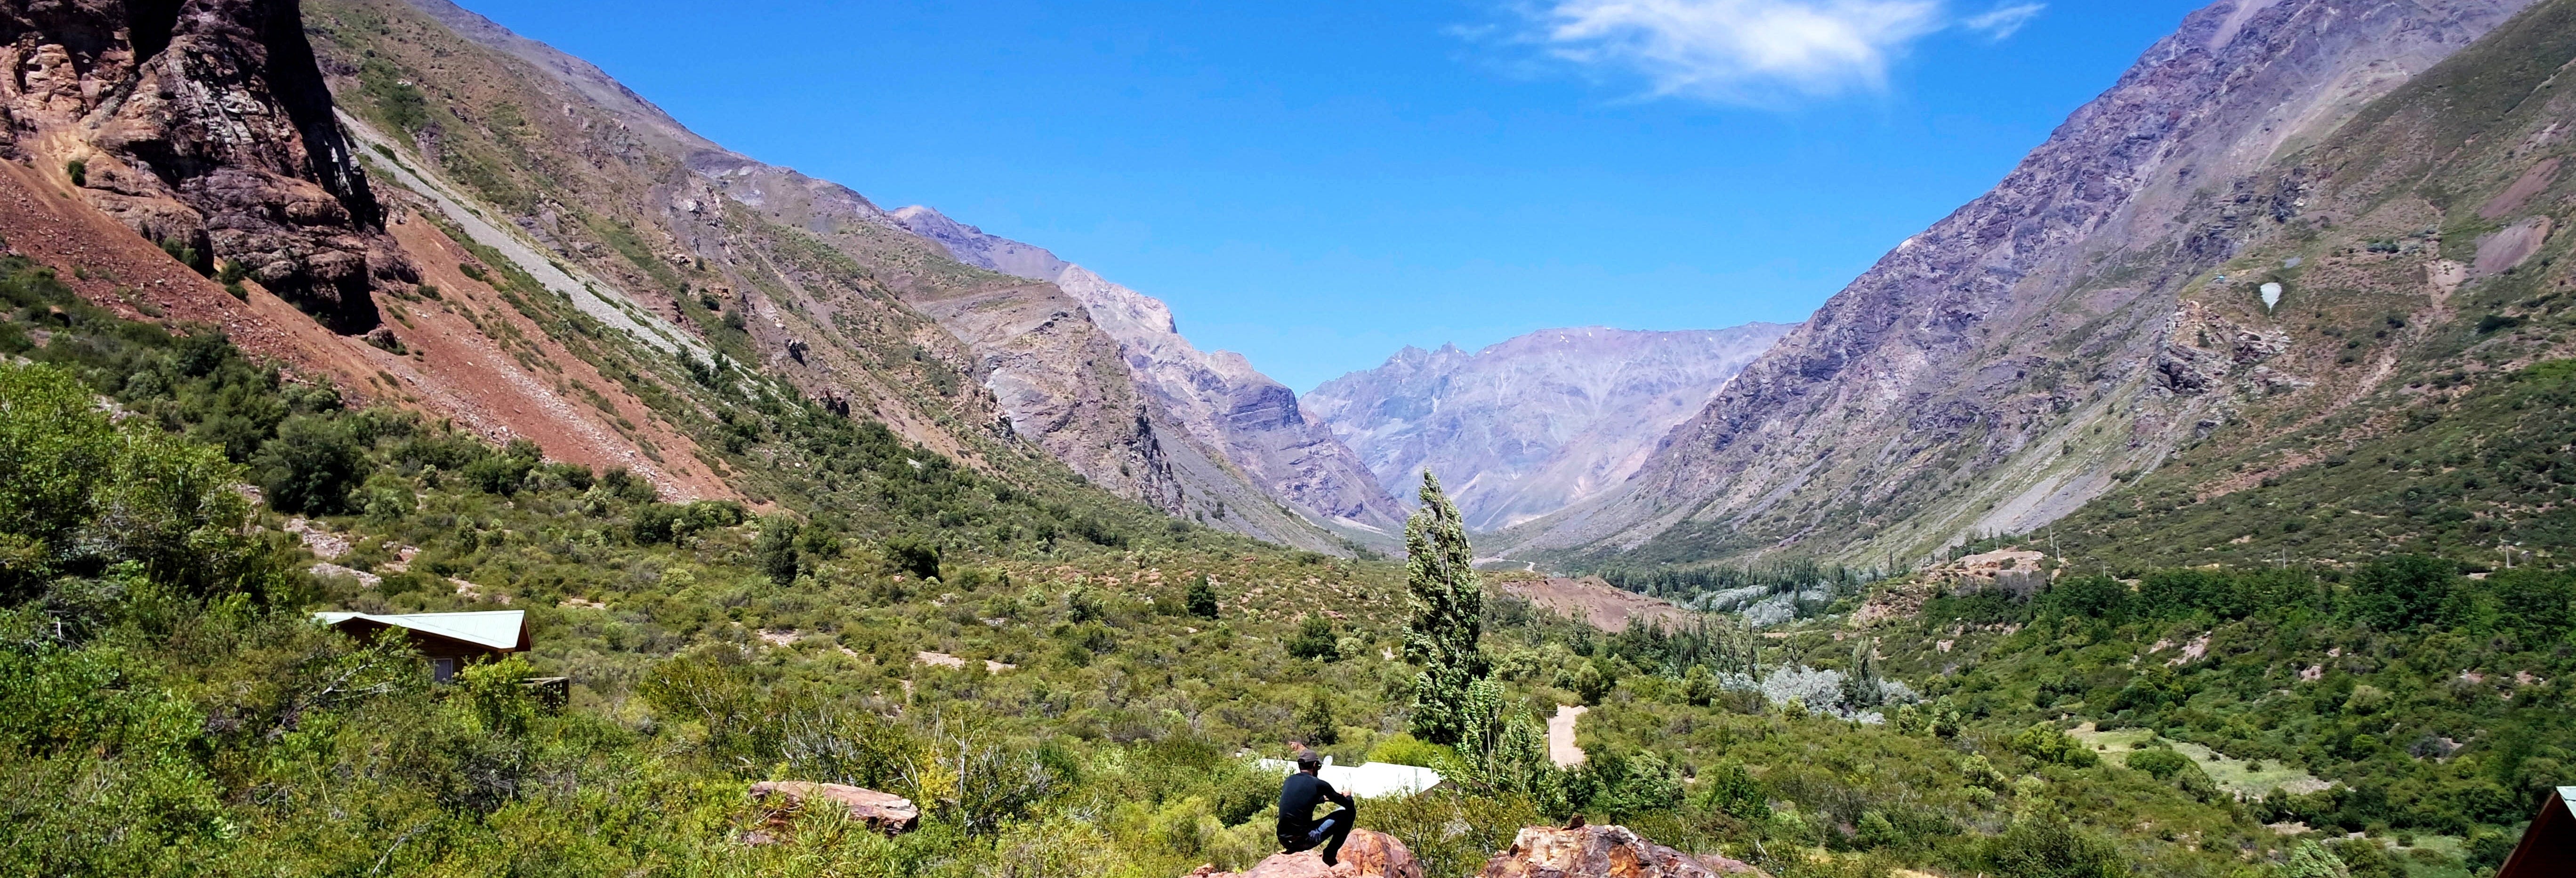
M 1515 559 L 1904 566 L 2141 484 L 2295 479 L 2427 384 L 2548 358 L 2553 332 L 2514 330 L 2530 304 L 2473 301 L 2553 265 L 2555 82 L 2517 80 L 2555 51 L 2548 15 L 2522 59 L 2452 59 L 2522 8 L 2218 3 L 1798 327 L 1404 350 L 1309 399 L 1162 301 L 729 152 L 446 0 L 139 8 L 124 44 L 44 41 L 98 10 L 21 13 L 26 209 L 0 234 L 116 255 L 75 278 L 116 309 L 672 497 L 770 494 L 719 399 L 757 381 L 1316 551 L 1394 548 L 1386 487 L 1427 469 Z M 165 46 L 222 62 L 137 62 Z M 2519 88 L 2496 113 L 2530 131 L 2460 134 L 2421 95 L 2445 64 L 2486 100 Z

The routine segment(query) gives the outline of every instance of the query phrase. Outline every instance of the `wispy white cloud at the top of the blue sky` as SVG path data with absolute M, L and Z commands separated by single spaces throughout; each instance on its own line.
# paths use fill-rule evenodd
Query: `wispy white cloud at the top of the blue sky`
M 1654 95 L 1728 103 L 1829 98 L 1886 85 L 1888 62 L 1942 28 L 2012 36 L 2040 3 L 1958 18 L 1945 0 L 1543 0 L 1530 44 Z

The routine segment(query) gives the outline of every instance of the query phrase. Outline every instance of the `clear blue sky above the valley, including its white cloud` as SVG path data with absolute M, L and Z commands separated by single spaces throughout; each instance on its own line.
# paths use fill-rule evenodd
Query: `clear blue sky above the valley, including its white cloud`
M 1298 391 L 1401 345 L 1806 319 L 2200 5 L 466 3 Z

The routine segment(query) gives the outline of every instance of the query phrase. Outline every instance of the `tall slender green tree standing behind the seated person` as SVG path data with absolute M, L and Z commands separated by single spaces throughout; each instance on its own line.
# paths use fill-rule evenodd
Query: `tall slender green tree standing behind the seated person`
M 1486 675 L 1476 649 L 1484 633 L 1484 582 L 1466 543 L 1466 520 L 1422 471 L 1422 510 L 1404 520 L 1404 584 L 1414 618 L 1404 626 L 1404 659 L 1422 664 L 1414 677 L 1414 736 L 1458 744 L 1476 718 L 1468 687 Z

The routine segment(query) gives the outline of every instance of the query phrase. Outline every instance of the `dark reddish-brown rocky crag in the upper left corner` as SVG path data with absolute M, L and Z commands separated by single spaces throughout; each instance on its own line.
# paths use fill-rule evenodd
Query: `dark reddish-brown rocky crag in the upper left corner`
M 137 234 L 240 263 L 337 332 L 417 281 L 332 118 L 296 0 L 0 3 L 13 157 L 62 167 Z

